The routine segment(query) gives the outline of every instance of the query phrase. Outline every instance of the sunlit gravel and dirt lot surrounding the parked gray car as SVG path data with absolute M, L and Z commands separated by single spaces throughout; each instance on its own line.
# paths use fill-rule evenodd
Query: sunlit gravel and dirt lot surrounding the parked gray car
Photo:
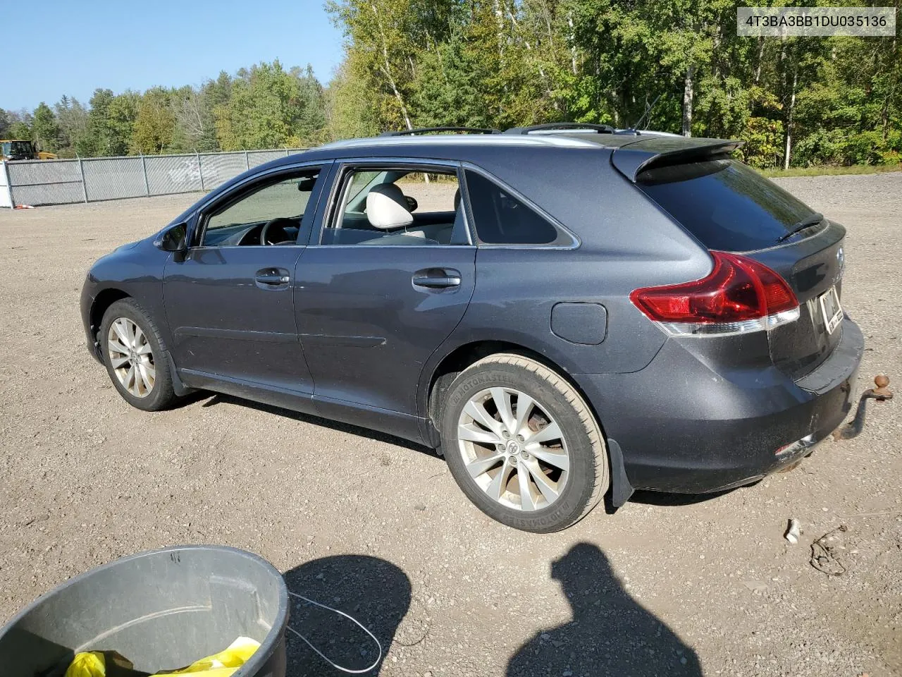
M 849 228 L 862 376 L 902 386 L 902 173 L 783 184 Z M 0 212 L 0 624 L 101 562 L 226 543 L 372 626 L 382 675 L 902 674 L 902 401 L 755 487 L 519 533 L 428 450 L 230 398 L 148 414 L 115 394 L 84 347 L 84 274 L 195 198 Z M 840 525 L 828 577 L 811 543 Z M 293 617 L 345 663 L 373 658 L 348 624 Z M 290 662 L 333 673 L 293 638 Z

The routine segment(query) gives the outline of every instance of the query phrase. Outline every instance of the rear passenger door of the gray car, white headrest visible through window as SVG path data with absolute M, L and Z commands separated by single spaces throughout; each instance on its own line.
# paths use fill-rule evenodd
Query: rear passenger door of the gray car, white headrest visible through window
M 474 290 L 457 167 L 348 163 L 335 173 L 295 293 L 314 400 L 325 416 L 401 434 L 416 429 L 423 365 Z

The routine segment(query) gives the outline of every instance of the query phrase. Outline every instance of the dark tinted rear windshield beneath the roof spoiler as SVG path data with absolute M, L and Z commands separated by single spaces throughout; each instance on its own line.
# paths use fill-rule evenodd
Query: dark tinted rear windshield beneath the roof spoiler
M 732 159 L 656 167 L 641 172 L 636 185 L 704 246 L 728 252 L 775 246 L 815 213 Z

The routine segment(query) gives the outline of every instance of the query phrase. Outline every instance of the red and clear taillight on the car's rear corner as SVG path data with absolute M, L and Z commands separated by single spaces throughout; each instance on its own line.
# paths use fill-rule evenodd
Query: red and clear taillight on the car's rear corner
M 748 256 L 711 252 L 714 269 L 689 283 L 643 287 L 630 301 L 668 334 L 741 334 L 797 320 L 786 280 Z

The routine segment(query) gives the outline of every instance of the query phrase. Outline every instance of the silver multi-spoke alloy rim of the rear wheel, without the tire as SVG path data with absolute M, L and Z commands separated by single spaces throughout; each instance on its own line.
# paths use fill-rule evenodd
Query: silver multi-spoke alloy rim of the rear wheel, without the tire
M 514 388 L 474 394 L 458 419 L 457 444 L 470 477 L 501 505 L 540 510 L 566 485 L 564 432 L 547 408 Z

